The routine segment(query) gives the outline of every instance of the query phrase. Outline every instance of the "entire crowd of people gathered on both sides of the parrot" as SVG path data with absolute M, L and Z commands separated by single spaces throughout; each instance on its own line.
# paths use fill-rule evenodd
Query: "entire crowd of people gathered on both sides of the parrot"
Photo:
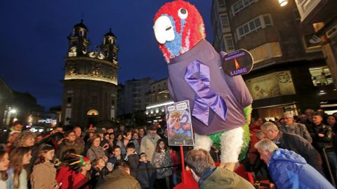
M 250 150 L 243 162 L 247 171 L 277 188 L 294 183 L 331 188 L 329 181 L 337 176 L 336 116 L 305 110 L 298 117 L 286 112 L 270 122 L 252 119 Z M 166 128 L 90 126 L 84 131 L 81 126 L 55 126 L 53 131 L 32 133 L 22 126 L 15 122 L 1 133 L 1 189 L 173 188 L 180 183 L 180 153 L 169 146 Z M 235 181 L 229 188 L 251 188 L 244 178 L 215 166 L 220 159 L 215 147 L 210 152 L 186 151 L 185 162 L 199 188 L 229 181 Z M 305 179 L 300 176 L 303 170 Z M 286 171 L 295 177 L 282 176 Z

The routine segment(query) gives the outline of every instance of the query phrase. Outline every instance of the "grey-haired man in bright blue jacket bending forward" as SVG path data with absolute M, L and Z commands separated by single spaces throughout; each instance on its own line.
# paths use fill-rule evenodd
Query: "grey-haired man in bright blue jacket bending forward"
M 269 174 L 278 189 L 333 188 L 329 181 L 296 152 L 278 148 L 268 139 L 259 141 L 254 147 L 258 149 L 260 158 L 267 164 Z

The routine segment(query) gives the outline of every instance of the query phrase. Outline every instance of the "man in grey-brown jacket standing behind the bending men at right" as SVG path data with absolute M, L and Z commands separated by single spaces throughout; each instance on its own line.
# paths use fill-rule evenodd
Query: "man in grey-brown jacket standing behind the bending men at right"
M 297 134 L 307 140 L 310 144 L 312 143 L 312 138 L 307 130 L 307 127 L 304 124 L 294 122 L 291 112 L 285 112 L 283 114 L 283 118 L 284 124 L 280 126 L 280 131 L 284 133 Z

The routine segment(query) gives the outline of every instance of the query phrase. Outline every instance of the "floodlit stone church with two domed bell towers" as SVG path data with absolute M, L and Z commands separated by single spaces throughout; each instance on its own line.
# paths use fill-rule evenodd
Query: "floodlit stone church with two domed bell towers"
M 108 125 L 117 116 L 117 39 L 110 29 L 100 48 L 90 51 L 87 36 L 81 20 L 67 37 L 61 118 L 65 125 Z

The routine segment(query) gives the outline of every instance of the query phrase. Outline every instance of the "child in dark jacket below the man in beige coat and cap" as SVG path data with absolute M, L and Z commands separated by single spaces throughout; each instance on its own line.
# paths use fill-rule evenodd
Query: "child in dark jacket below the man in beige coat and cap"
M 143 152 L 139 155 L 139 165 L 137 171 L 137 180 L 142 189 L 153 189 L 156 171 L 153 165 L 147 161 L 147 155 Z

